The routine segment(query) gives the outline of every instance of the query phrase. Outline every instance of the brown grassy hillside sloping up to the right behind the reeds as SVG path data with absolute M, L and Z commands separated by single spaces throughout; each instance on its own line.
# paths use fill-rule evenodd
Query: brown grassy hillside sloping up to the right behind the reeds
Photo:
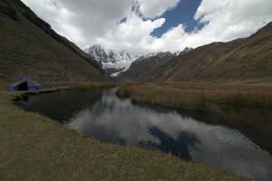
M 178 56 L 141 81 L 272 83 L 272 23 L 246 39 L 210 43 Z

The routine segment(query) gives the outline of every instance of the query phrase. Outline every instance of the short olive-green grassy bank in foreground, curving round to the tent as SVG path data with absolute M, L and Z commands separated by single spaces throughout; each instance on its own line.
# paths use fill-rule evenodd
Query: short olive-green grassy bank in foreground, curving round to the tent
M 90 139 L 16 107 L 13 100 L 25 93 L 34 92 L 0 92 L 1 180 L 252 180 L 159 151 Z

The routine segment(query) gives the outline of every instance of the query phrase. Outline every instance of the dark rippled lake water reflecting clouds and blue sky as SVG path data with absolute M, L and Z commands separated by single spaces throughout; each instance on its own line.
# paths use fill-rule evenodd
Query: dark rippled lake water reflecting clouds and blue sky
M 171 153 L 240 176 L 272 180 L 272 110 L 132 105 L 111 90 L 61 91 L 16 102 L 102 142 Z

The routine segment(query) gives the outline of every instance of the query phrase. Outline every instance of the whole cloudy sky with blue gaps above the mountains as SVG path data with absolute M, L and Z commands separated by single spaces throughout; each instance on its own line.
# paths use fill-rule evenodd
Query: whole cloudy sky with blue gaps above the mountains
M 80 48 L 176 52 L 248 37 L 272 21 L 272 0 L 22 0 Z

